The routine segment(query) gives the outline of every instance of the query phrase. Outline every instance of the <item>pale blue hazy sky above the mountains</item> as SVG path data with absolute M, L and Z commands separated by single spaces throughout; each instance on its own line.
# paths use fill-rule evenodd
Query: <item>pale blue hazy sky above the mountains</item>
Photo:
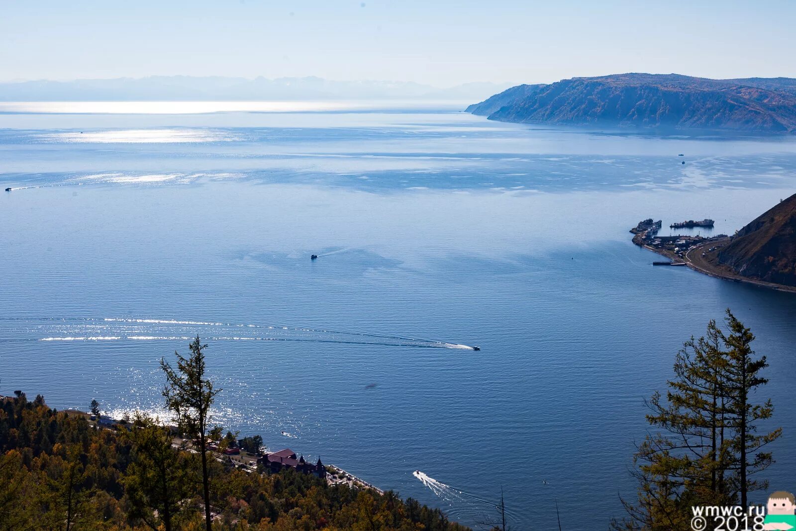
M 796 77 L 796 2 L 0 0 L 0 79 Z

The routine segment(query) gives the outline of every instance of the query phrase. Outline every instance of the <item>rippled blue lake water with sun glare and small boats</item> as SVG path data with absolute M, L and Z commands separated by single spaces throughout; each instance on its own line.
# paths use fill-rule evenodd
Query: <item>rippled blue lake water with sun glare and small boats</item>
M 0 108 L 0 392 L 154 410 L 158 361 L 201 334 L 217 422 L 271 450 L 468 525 L 502 486 L 517 529 L 555 527 L 556 501 L 604 529 L 642 400 L 729 306 L 771 364 L 767 477 L 796 488 L 796 296 L 651 267 L 628 232 L 732 233 L 796 191 L 794 139 L 124 105 Z

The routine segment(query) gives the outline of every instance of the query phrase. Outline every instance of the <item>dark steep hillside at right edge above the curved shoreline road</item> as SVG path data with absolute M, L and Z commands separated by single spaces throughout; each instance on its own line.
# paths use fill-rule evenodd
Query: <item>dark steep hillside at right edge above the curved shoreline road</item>
M 743 227 L 717 260 L 739 275 L 796 286 L 796 194 Z

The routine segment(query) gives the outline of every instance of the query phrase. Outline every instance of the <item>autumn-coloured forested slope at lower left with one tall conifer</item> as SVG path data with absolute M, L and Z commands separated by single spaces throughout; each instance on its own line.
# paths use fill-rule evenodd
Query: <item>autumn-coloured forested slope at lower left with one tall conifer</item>
M 162 361 L 176 427 L 136 414 L 107 428 L 41 395 L 0 397 L 0 531 L 468 529 L 392 491 L 217 459 L 209 409 L 220 389 L 205 377 L 204 349 L 197 338 L 174 367 Z M 201 445 L 175 447 L 174 429 Z

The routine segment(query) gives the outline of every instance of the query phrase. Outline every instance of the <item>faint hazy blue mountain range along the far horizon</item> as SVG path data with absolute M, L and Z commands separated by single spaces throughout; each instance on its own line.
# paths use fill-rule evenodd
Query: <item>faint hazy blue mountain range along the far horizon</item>
M 402 81 L 335 81 L 320 77 L 253 80 L 242 77 L 150 76 L 140 79 L 0 83 L 0 101 L 213 101 L 213 100 L 475 100 L 508 83 L 451 88 Z

